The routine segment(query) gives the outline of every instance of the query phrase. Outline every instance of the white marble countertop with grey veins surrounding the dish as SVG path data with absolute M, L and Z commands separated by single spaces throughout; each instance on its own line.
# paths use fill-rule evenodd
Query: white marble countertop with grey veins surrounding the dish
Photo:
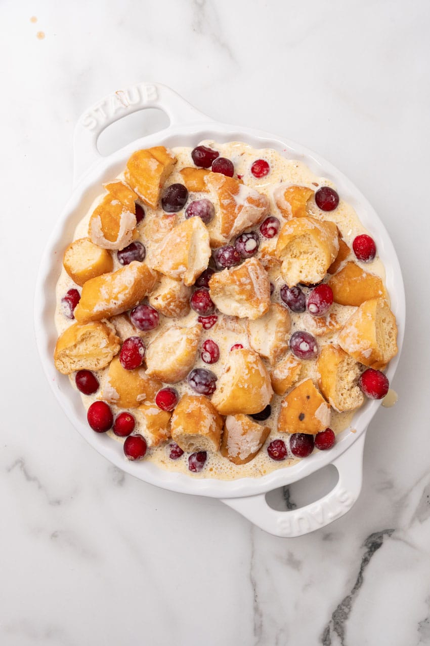
M 429 5 L 3 0 L 0 17 L 0 643 L 430 644 Z M 313 534 L 273 537 L 217 500 L 125 475 L 73 430 L 44 377 L 35 276 L 70 194 L 73 127 L 142 80 L 320 152 L 395 244 L 399 401 L 371 422 L 357 503 Z M 104 152 L 150 127 L 144 113 L 112 127 Z M 330 477 L 314 478 L 314 497 Z M 306 495 L 295 485 L 279 500 Z

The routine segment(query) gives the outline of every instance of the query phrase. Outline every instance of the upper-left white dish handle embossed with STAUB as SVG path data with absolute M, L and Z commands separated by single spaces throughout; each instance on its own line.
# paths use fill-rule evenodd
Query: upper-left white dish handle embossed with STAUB
M 73 185 L 102 158 L 97 149 L 97 139 L 101 132 L 122 117 L 147 108 L 159 108 L 165 112 L 173 126 L 211 121 L 170 87 L 161 83 L 136 83 L 126 89 L 116 90 L 97 101 L 77 121 L 73 136 Z

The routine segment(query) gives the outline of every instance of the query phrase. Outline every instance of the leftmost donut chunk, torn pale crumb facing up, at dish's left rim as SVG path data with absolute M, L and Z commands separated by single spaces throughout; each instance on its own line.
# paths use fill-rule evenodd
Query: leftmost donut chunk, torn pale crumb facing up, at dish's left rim
M 75 370 L 101 370 L 108 366 L 119 348 L 119 338 L 104 323 L 73 323 L 57 340 L 55 368 L 63 375 Z

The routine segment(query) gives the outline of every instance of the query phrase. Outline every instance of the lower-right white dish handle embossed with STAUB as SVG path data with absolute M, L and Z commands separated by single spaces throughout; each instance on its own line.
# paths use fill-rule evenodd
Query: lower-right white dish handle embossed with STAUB
M 224 498 L 222 502 L 274 536 L 303 536 L 344 516 L 357 501 L 362 486 L 363 448 L 366 430 L 333 461 L 339 479 L 324 497 L 299 509 L 277 511 L 269 507 L 266 494 Z

